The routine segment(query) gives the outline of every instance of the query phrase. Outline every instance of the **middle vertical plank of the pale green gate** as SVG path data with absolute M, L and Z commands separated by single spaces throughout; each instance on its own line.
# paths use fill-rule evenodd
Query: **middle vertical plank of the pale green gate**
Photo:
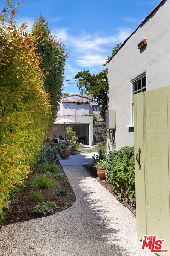
M 147 234 L 161 237 L 158 89 L 147 91 L 145 108 L 145 175 Z

